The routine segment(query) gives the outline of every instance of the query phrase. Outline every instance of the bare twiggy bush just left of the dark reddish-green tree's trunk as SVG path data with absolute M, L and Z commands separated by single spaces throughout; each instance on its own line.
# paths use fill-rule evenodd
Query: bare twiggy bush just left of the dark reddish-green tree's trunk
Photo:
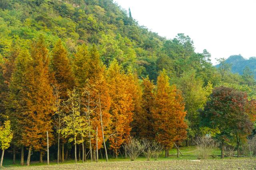
M 214 148 L 218 146 L 215 140 L 211 137 L 199 136 L 196 138 L 198 149 L 198 159 L 207 159 L 212 155 Z

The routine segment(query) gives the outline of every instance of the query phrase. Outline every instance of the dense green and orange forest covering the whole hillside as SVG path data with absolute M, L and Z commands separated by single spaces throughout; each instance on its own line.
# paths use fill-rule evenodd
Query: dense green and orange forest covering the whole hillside
M 0 148 L 14 162 L 42 162 L 47 145 L 50 160 L 94 161 L 131 136 L 168 150 L 206 134 L 224 157 L 255 134 L 248 67 L 215 67 L 189 36 L 160 37 L 112 0 L 0 0 L 0 30 Z

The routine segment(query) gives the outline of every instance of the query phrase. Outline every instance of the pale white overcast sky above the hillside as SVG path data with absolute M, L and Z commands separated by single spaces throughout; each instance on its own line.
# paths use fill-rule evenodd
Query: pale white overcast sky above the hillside
M 114 0 L 142 26 L 168 39 L 184 33 L 196 52 L 256 56 L 256 0 Z

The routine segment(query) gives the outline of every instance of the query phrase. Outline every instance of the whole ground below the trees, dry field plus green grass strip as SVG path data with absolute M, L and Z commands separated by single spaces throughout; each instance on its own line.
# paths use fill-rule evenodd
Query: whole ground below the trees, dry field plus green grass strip
M 78 162 L 68 160 L 59 165 L 56 161 L 50 162 L 50 166 L 46 163 L 39 164 L 38 161 L 31 162 L 31 166 L 12 165 L 12 160 L 4 160 L 4 167 L 8 169 L 90 169 L 90 170 L 112 170 L 112 169 L 255 169 L 256 158 L 225 158 L 221 160 L 220 150 L 214 150 L 212 154 L 216 155 L 215 158 L 210 157 L 208 160 L 197 160 L 197 150 L 195 147 L 182 147 L 181 152 L 184 154 L 180 158 L 176 157 L 176 149 L 170 150 L 170 157 L 164 158 L 164 153 L 158 160 L 146 161 L 146 158 L 139 157 L 135 161 L 130 161 L 129 158 L 110 158 L 109 162 L 99 160 L 96 162 Z

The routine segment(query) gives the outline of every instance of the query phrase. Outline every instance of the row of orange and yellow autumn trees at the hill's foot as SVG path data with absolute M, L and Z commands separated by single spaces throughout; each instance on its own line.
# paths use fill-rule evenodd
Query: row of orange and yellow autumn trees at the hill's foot
M 49 144 L 58 143 L 59 162 L 61 142 L 74 143 L 75 160 L 76 144 L 82 144 L 82 160 L 86 147 L 94 160 L 103 145 L 106 156 L 107 149 L 118 156 L 131 134 L 166 149 L 186 138 L 183 99 L 165 71 L 155 87 L 148 77 L 124 72 L 116 60 L 106 68 L 95 45 L 80 45 L 70 55 L 60 40 L 48 52 L 42 37 L 30 49 L 15 47 L 9 57 L 15 62 L 6 62 L 13 69 L 3 68 L 11 71 L 5 108 L 16 147 L 44 152 L 48 131 Z

